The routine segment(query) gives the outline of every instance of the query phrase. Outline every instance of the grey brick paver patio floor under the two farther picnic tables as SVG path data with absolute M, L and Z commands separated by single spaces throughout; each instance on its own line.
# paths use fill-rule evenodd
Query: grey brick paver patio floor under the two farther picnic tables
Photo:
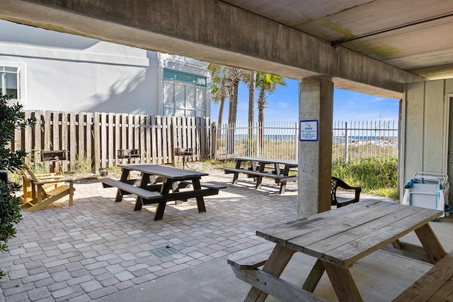
M 228 187 L 205 197 L 206 213 L 189 199 L 168 203 L 153 221 L 154 206 L 133 211 L 133 197 L 115 203 L 116 190 L 97 180 L 75 184 L 74 207 L 23 212 L 9 252 L 0 253 L 0 300 L 91 301 L 256 245 L 256 229 L 297 218 L 297 183 L 280 195 L 271 180 L 255 190 L 246 179 L 232 186 L 229 175 L 208 173 L 203 181 Z

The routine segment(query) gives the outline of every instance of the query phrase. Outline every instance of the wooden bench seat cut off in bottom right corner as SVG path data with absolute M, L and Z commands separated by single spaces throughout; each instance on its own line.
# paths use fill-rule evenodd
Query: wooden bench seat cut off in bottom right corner
M 452 301 L 452 297 L 453 253 L 451 252 L 396 297 L 394 302 Z

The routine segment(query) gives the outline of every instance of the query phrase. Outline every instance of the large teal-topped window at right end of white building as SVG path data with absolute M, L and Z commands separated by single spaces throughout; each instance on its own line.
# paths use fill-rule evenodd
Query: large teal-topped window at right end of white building
M 206 77 L 164 69 L 164 115 L 206 116 Z

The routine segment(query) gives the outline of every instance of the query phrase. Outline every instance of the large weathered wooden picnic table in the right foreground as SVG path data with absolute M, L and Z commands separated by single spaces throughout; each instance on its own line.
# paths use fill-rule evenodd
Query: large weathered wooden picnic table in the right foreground
M 389 244 L 406 250 L 406 256 L 432 264 L 447 255 L 428 224 L 440 212 L 395 202 L 362 201 L 260 229 L 256 234 L 274 243 L 274 248 L 250 248 L 230 255 L 228 261 L 236 277 L 253 286 L 245 301 L 264 301 L 268 294 L 282 301 L 323 301 L 312 293 L 324 271 L 339 301 L 362 301 L 349 270 L 362 257 Z M 399 242 L 398 238 L 411 231 L 423 247 Z M 294 252 L 318 258 L 302 289 L 280 279 Z M 263 263 L 263 269 L 258 269 Z

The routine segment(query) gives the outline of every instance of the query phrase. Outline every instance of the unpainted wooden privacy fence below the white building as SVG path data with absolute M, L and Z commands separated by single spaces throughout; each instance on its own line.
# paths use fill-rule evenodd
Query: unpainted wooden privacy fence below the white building
M 42 151 L 69 151 L 64 171 L 77 165 L 97 172 L 120 163 L 175 163 L 176 148 L 193 149 L 192 161 L 214 154 L 215 126 L 209 117 L 27 110 L 28 117 L 36 117 L 36 125 L 16 130 L 11 150 L 28 151 L 27 161 L 35 163 L 42 162 Z M 118 158 L 122 149 L 138 149 L 139 158 Z

